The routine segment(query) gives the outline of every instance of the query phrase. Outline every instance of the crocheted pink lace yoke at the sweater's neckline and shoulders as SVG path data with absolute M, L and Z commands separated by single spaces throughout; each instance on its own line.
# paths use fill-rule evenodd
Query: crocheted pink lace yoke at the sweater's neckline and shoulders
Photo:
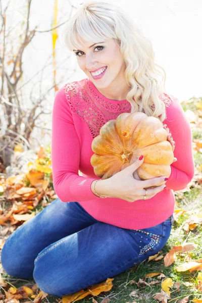
M 67 83 L 64 86 L 71 112 L 79 116 L 88 126 L 92 137 L 99 135 L 100 128 L 109 120 L 117 119 L 121 113 L 130 113 L 127 100 L 110 102 L 110 99 L 97 94 L 88 79 Z M 161 93 L 160 98 L 166 107 L 172 102 L 171 94 Z M 144 112 L 144 110 L 142 110 Z

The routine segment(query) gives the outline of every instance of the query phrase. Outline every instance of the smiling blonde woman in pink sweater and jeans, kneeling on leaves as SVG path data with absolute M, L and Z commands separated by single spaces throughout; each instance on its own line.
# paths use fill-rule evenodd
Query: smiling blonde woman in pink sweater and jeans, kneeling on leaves
M 132 18 L 114 4 L 85 2 L 64 34 L 87 77 L 66 83 L 55 97 L 58 198 L 10 235 L 2 250 L 9 275 L 33 275 L 40 289 L 56 296 L 112 278 L 161 250 L 173 224 L 173 190 L 194 175 L 189 122 L 162 87 L 151 42 Z M 169 178 L 138 180 L 142 157 L 111 178 L 94 174 L 93 138 L 107 121 L 130 112 L 163 122 L 175 156 Z

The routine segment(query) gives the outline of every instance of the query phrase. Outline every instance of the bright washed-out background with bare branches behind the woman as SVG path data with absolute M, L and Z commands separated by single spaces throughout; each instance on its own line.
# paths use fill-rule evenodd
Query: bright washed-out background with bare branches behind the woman
M 1 150 L 10 140 L 7 155 L 18 142 L 28 149 L 49 144 L 57 89 L 86 77 L 62 40 L 66 22 L 83 2 L 0 2 Z M 166 71 L 166 90 L 180 102 L 200 97 L 201 0 L 113 2 L 132 15 L 150 38 L 156 62 Z

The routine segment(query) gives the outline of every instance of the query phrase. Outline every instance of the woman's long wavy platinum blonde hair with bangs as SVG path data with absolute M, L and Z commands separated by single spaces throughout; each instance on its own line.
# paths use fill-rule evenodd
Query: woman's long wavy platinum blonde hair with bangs
M 79 49 L 79 37 L 94 43 L 106 38 L 115 39 L 120 46 L 126 64 L 124 74 L 131 87 L 126 97 L 131 104 L 131 113 L 143 111 L 164 121 L 166 109 L 160 95 L 166 92 L 166 73 L 155 63 L 151 41 L 123 8 L 105 0 L 86 1 L 70 18 L 63 35 L 70 51 L 75 47 Z

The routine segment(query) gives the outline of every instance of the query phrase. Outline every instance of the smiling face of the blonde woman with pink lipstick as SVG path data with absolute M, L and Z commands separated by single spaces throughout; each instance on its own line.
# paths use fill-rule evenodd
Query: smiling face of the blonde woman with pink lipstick
M 114 39 L 106 39 L 97 41 L 95 45 L 81 39 L 82 45 L 80 49 L 75 50 L 77 54 L 77 62 L 80 69 L 88 76 L 88 78 L 95 84 L 97 88 L 112 88 L 117 87 L 124 76 L 125 63 L 123 61 L 119 45 Z M 106 71 L 101 75 L 92 75 L 94 70 L 107 67 Z

